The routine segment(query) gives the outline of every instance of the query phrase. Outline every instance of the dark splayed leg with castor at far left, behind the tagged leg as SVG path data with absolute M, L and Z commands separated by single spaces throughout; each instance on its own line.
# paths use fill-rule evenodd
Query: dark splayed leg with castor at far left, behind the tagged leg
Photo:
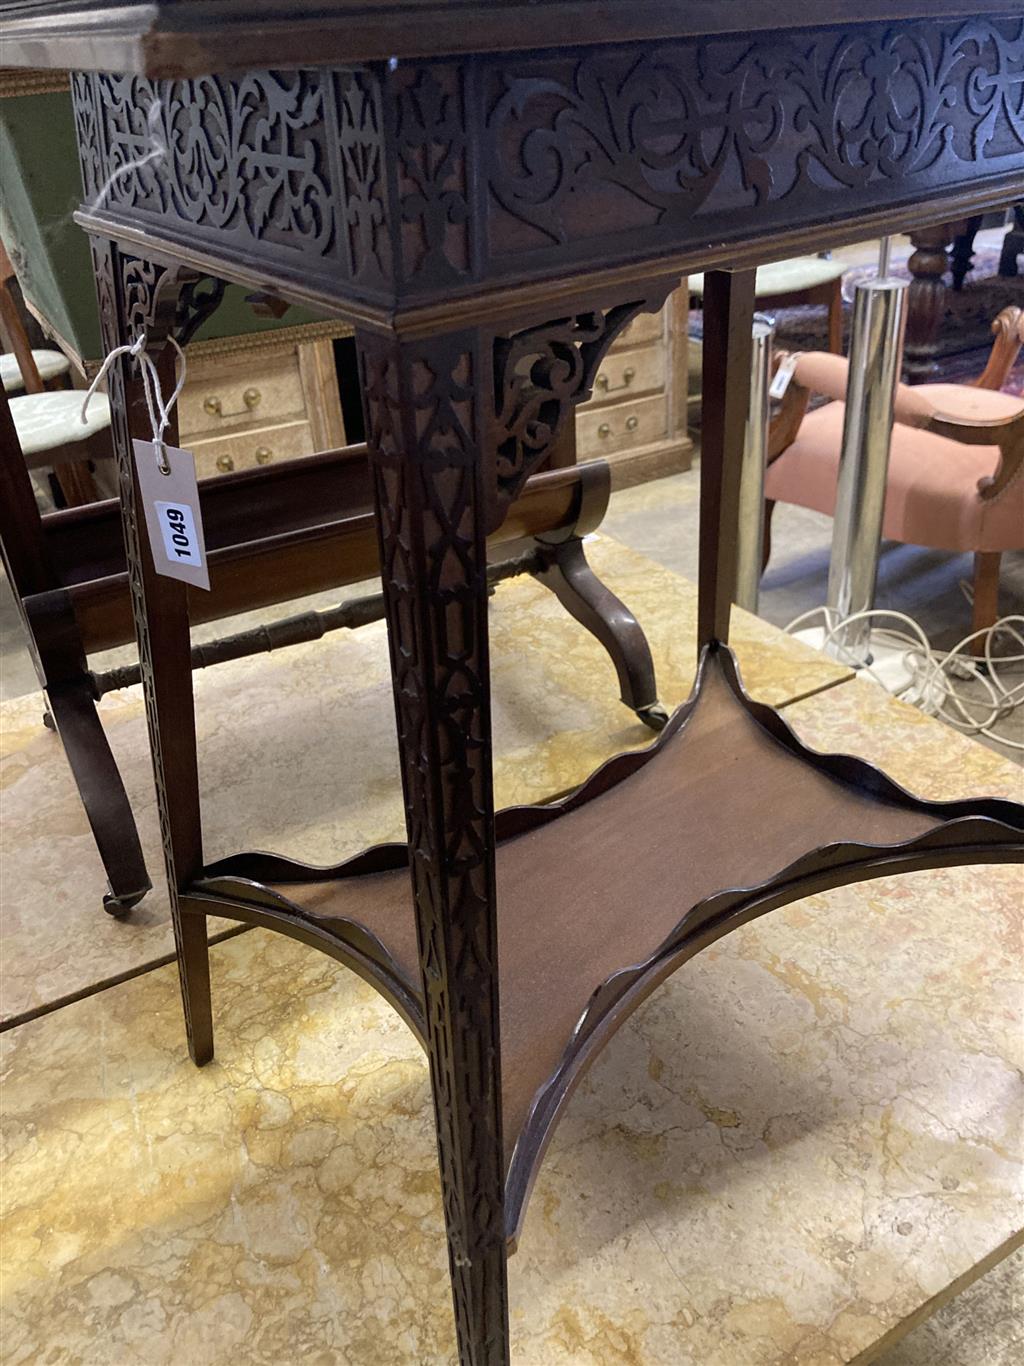
M 46 690 L 46 701 L 106 870 L 109 892 L 104 896 L 104 907 L 111 915 L 124 915 L 153 884 L 89 678 L 83 675 L 52 686 Z

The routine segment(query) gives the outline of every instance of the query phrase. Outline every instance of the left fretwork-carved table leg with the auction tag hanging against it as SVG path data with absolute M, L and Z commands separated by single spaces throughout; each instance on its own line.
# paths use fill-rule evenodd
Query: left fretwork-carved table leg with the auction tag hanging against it
M 173 325 L 182 280 L 162 266 L 126 255 L 102 239 L 93 242 L 104 346 L 112 350 L 145 329 L 157 358 L 164 392 L 173 388 L 173 357 L 161 346 Z M 134 362 L 120 357 L 111 369 L 111 415 L 117 459 L 124 542 L 128 553 L 135 635 L 157 788 L 171 917 L 177 948 L 188 1052 L 202 1065 L 213 1057 L 206 917 L 190 912 L 182 893 L 202 873 L 199 777 L 184 583 L 154 572 L 146 522 L 138 505 L 131 438 L 152 428 Z M 173 445 L 176 430 L 167 433 Z

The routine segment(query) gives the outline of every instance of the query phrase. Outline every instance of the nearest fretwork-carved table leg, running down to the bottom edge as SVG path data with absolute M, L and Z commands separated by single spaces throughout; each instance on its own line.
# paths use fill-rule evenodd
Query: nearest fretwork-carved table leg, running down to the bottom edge
M 358 333 L 461 1366 L 508 1362 L 479 333 Z

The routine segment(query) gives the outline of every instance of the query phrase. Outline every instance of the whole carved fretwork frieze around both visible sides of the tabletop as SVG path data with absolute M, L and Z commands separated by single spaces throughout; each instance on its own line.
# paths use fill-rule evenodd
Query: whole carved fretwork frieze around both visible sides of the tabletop
M 807 238 L 1024 175 L 1020 18 L 100 72 L 72 94 L 86 206 L 220 254 L 228 277 L 300 277 L 325 305 Z

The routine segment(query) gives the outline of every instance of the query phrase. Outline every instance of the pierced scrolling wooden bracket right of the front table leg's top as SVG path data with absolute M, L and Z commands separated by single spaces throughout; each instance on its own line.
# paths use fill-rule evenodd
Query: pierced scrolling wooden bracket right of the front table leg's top
M 657 301 L 658 303 L 661 299 Z M 494 340 L 494 477 L 511 503 L 586 402 L 601 361 L 647 301 L 578 313 Z M 655 305 L 657 306 L 657 305 Z

